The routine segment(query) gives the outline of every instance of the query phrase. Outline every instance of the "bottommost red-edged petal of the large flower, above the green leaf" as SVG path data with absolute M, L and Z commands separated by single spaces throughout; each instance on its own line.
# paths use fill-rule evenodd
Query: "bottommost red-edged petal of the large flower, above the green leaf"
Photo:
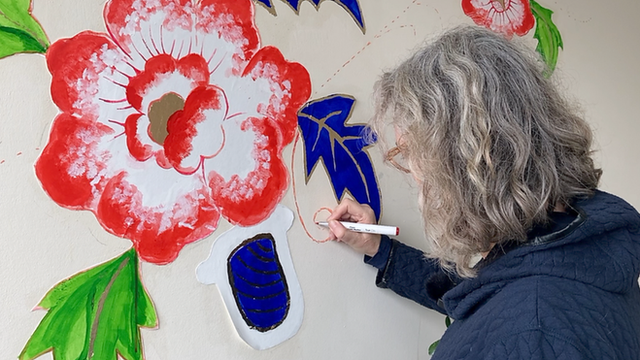
M 170 263 L 184 245 L 215 231 L 220 213 L 206 187 L 177 195 L 169 207 L 148 206 L 130 180 L 122 172 L 109 181 L 96 216 L 111 233 L 131 239 L 145 261 Z

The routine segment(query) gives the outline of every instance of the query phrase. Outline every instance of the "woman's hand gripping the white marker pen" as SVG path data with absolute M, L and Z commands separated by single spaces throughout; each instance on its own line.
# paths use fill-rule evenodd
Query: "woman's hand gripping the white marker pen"
M 327 222 L 329 223 L 332 240 L 342 241 L 361 254 L 374 256 L 378 252 L 380 235 L 348 230 L 340 221 L 375 224 L 376 216 L 369 205 L 362 205 L 351 199 L 344 199 L 327 218 Z

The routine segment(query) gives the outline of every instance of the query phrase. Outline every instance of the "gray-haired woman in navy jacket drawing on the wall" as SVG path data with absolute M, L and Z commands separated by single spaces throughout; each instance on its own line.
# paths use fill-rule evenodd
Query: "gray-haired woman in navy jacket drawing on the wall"
M 434 360 L 640 359 L 640 215 L 596 189 L 589 126 L 544 73 L 463 27 L 376 84 L 372 127 L 395 129 L 387 160 L 417 183 L 429 252 L 345 229 L 375 222 L 353 201 L 329 226 L 379 287 L 454 319 Z

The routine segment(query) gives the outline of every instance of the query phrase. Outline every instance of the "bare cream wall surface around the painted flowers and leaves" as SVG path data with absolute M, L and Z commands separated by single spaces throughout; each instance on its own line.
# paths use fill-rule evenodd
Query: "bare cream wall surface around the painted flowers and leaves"
M 53 42 L 86 29 L 105 31 L 104 3 L 34 0 L 33 14 Z M 323 2 L 318 11 L 304 2 L 299 15 L 279 0 L 274 3 L 276 17 L 256 7 L 262 44 L 275 45 L 307 68 L 312 99 L 333 93 L 354 96 L 351 122 L 370 116 L 371 88 L 383 69 L 425 38 L 472 23 L 460 1 L 360 0 L 363 34 L 333 2 Z M 640 207 L 640 2 L 539 3 L 554 11 L 564 40 L 554 76 L 595 129 L 602 189 Z M 535 47 L 533 31 L 524 41 Z M 42 55 L 0 60 L 1 359 L 17 358 L 45 314 L 33 309 L 52 286 L 118 256 L 131 244 L 107 233 L 90 212 L 58 206 L 35 177 L 33 164 L 58 112 L 50 81 Z M 291 159 L 292 151 L 290 145 L 284 158 Z M 371 153 L 383 194 L 381 222 L 399 225 L 400 240 L 423 247 L 415 189 L 382 164 L 378 151 Z M 300 211 L 311 219 L 316 209 L 333 207 L 336 201 L 320 169 L 304 184 L 302 146 L 293 155 Z M 295 208 L 291 186 L 282 203 Z M 236 334 L 217 288 L 195 278 L 195 268 L 207 258 L 215 238 L 230 227 L 221 220 L 212 236 L 186 246 L 169 265 L 142 263 L 142 279 L 159 317 L 157 329 L 142 330 L 146 359 L 427 359 L 427 348 L 444 331 L 441 315 L 376 288 L 375 271 L 361 256 L 342 244 L 311 241 L 296 219 L 288 237 L 304 294 L 302 327 L 272 349 L 253 350 Z

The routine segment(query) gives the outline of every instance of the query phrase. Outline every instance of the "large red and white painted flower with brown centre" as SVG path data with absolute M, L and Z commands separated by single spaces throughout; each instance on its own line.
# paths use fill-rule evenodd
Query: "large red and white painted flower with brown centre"
M 260 47 L 251 0 L 110 0 L 108 34 L 47 52 L 61 113 L 36 162 L 58 204 L 92 211 L 150 262 L 266 219 L 289 183 L 282 149 L 311 91 Z

